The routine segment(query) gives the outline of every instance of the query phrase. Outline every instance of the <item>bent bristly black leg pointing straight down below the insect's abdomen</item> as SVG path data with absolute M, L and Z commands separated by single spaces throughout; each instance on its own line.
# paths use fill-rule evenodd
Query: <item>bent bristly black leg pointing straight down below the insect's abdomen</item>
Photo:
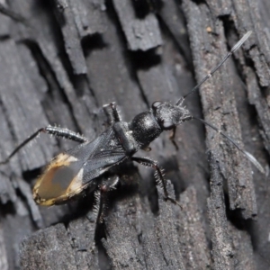
M 116 184 L 119 183 L 119 177 L 109 178 L 106 181 L 103 181 L 102 184 L 98 186 L 98 190 L 94 193 L 95 205 L 94 211 L 96 212 L 96 223 L 103 223 L 103 218 L 106 211 L 106 202 L 108 192 L 115 189 Z

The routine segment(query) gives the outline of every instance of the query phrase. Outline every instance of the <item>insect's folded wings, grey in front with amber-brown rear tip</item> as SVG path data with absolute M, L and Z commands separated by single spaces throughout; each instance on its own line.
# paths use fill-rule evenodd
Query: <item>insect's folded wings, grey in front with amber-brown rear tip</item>
M 33 198 L 40 205 L 67 201 L 81 193 L 94 178 L 125 158 L 118 139 L 110 128 L 91 142 L 78 145 L 55 157 L 33 188 Z

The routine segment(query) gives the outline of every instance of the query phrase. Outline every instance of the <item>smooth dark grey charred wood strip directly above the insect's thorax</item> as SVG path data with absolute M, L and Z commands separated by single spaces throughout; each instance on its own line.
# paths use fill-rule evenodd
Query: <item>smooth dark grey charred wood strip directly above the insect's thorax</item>
M 112 14 L 111 6 L 108 7 L 108 12 Z M 128 57 L 126 42 L 117 30 L 116 18 L 110 18 L 106 14 L 106 22 L 107 31 L 101 37 L 94 36 L 90 39 L 88 47 L 85 48 L 87 78 L 96 103 L 102 107 L 103 104 L 116 102 L 122 120 L 130 121 L 134 113 L 146 110 L 147 106 L 134 78 L 134 67 Z M 92 42 L 96 46 L 92 47 Z

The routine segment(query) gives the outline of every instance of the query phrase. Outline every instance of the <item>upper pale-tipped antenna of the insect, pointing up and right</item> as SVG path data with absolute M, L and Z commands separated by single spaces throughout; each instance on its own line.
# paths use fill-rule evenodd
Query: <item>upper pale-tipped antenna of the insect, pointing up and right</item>
M 176 105 L 179 105 L 180 103 L 183 102 L 183 100 L 190 94 L 193 94 L 193 92 L 195 92 L 207 79 L 209 79 L 223 64 L 224 62 L 229 58 L 231 57 L 231 55 L 237 50 L 239 49 L 243 43 L 249 38 L 249 36 L 251 35 L 252 31 L 247 31 L 247 33 L 242 37 L 241 40 L 239 40 L 233 47 L 232 49 L 230 49 L 230 51 L 228 52 L 228 54 L 220 61 L 220 63 L 216 66 L 216 67 L 213 67 L 211 69 L 211 71 L 207 74 L 207 76 L 204 76 L 202 78 L 202 81 L 194 86 L 194 88 L 187 94 L 184 95 L 184 97 L 180 98 Z

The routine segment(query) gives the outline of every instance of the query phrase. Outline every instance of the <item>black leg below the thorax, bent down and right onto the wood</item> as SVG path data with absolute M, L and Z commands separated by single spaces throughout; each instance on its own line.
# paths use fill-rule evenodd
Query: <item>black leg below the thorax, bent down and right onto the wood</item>
M 164 178 L 163 170 L 160 168 L 157 161 L 152 160 L 148 157 L 131 157 L 131 160 L 138 162 L 140 165 L 150 166 L 154 168 L 156 170 L 155 176 L 157 179 L 157 184 L 162 186 L 165 200 L 174 202 L 175 204 L 179 204 L 178 202 L 175 201 L 175 199 L 168 196 L 168 193 L 166 190 L 166 179 Z

